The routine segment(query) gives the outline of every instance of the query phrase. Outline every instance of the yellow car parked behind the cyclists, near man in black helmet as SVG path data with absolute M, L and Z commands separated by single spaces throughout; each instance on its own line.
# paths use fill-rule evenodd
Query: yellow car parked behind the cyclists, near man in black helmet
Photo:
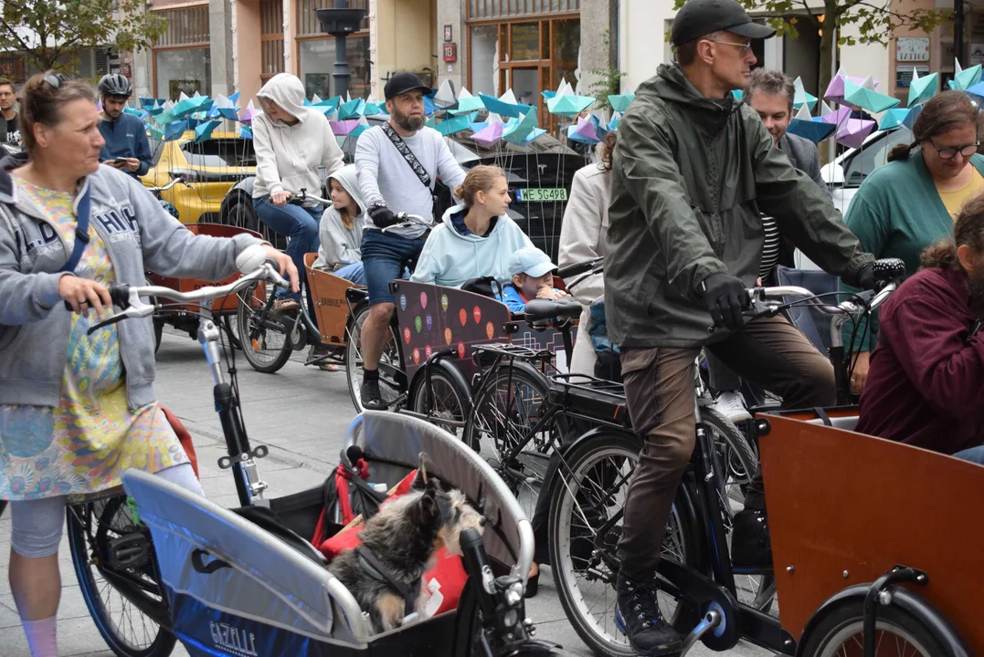
M 175 185 L 160 196 L 177 208 L 181 222 L 217 223 L 222 199 L 233 185 L 256 175 L 253 140 L 235 133 L 213 133 L 195 142 L 195 132 L 179 139 L 151 139 L 151 170 L 141 178 L 145 187 L 164 187 L 180 176 L 188 185 Z

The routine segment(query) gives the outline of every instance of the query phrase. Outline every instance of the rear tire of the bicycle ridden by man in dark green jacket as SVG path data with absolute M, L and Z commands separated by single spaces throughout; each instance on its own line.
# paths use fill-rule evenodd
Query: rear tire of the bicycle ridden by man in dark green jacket
M 588 603 L 584 600 L 584 594 L 578 589 L 574 579 L 577 575 L 576 570 L 586 572 L 589 560 L 594 558 L 593 542 L 586 540 L 589 532 L 584 533 L 584 529 L 582 529 L 584 535 L 572 535 L 577 532 L 572 532 L 571 514 L 575 509 L 583 510 L 586 507 L 582 502 L 576 505 L 576 498 L 581 492 L 581 484 L 584 481 L 585 474 L 598 467 L 598 465 L 601 465 L 601 459 L 612 458 L 612 462 L 610 463 L 618 467 L 620 473 L 618 480 L 624 483 L 626 489 L 628 489 L 628 473 L 638 463 L 642 448 L 643 442 L 638 436 L 615 431 L 597 433 L 573 447 L 571 453 L 565 456 L 564 461 L 566 466 L 562 471 L 558 472 L 559 479 L 550 490 L 548 541 L 550 544 L 550 561 L 553 564 L 552 573 L 554 575 L 554 584 L 557 587 L 561 606 L 564 608 L 564 614 L 567 616 L 568 622 L 578 632 L 584 643 L 596 655 L 604 657 L 629 657 L 630 655 L 635 655 L 636 652 L 629 644 L 628 639 L 615 627 L 614 608 L 617 596 L 614 590 L 615 574 L 611 573 L 610 570 L 608 575 L 612 577 L 611 582 L 598 579 L 592 583 L 592 586 L 593 584 L 600 584 L 602 593 L 606 596 L 606 601 L 608 600 L 608 595 L 610 594 L 611 596 L 610 606 L 607 606 L 601 613 L 603 624 L 601 621 L 586 618 L 586 613 L 589 613 L 595 607 L 596 603 L 592 602 L 588 606 Z M 602 465 L 600 472 L 602 476 L 606 476 L 606 469 Z M 585 490 L 587 489 L 585 488 Z M 608 491 L 605 496 L 608 497 L 610 494 L 611 491 Z M 677 493 L 678 499 L 682 494 Z M 604 506 L 606 509 L 604 512 L 606 518 L 598 517 L 595 520 L 604 521 L 610 518 L 608 516 L 609 513 L 617 513 L 618 509 L 611 506 L 611 504 Z M 694 524 L 695 520 L 688 514 L 681 512 L 681 508 L 682 505 L 674 502 L 670 512 L 670 519 L 667 522 L 667 534 L 663 541 L 663 554 L 666 553 L 666 546 L 669 544 L 673 552 L 672 556 L 677 561 L 689 567 L 699 568 L 703 562 L 700 543 L 701 532 L 696 524 Z M 597 514 L 598 511 L 595 507 L 594 509 L 588 510 L 588 512 L 582 512 L 582 518 L 584 518 L 587 529 L 589 529 L 590 523 L 586 519 L 587 513 Z M 619 527 L 613 527 L 610 532 L 610 534 L 620 533 Z M 578 542 L 577 548 L 575 548 L 575 541 Z M 605 542 L 614 551 L 617 544 L 617 536 L 606 536 Z M 593 568 L 598 570 L 599 567 L 607 568 L 604 562 Z M 658 598 L 663 616 L 669 623 L 676 625 L 683 615 L 687 615 L 688 618 L 690 617 L 689 610 L 685 609 L 683 605 L 676 604 L 672 609 L 669 608 L 672 596 L 668 593 L 663 593 Z

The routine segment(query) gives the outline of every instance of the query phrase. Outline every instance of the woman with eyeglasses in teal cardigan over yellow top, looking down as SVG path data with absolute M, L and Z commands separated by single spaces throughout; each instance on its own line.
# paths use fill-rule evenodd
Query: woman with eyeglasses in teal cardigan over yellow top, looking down
M 914 274 L 922 250 L 952 235 L 960 208 L 984 192 L 979 135 L 977 108 L 966 93 L 944 91 L 930 99 L 912 127 L 912 143 L 895 146 L 889 164 L 868 176 L 851 199 L 845 221 L 862 248 L 878 258 L 901 258 L 905 273 Z M 840 289 L 857 292 L 843 283 Z M 846 323 L 842 335 L 855 355 L 851 392 L 860 394 L 878 342 L 877 315 L 856 329 Z

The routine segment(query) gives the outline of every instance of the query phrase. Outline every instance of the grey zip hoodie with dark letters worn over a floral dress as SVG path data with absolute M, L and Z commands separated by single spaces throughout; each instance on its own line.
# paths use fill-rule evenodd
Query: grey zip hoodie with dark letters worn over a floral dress
M 72 313 L 58 295 L 72 244 L 27 194 L 10 169 L 27 156 L 0 162 L 0 404 L 57 407 L 61 399 Z M 83 179 L 92 192 L 90 226 L 109 251 L 117 285 L 144 285 L 144 272 L 219 281 L 256 238 L 196 236 L 169 215 L 137 180 L 108 166 Z M 130 409 L 154 402 L 154 324 L 126 319 L 118 327 Z

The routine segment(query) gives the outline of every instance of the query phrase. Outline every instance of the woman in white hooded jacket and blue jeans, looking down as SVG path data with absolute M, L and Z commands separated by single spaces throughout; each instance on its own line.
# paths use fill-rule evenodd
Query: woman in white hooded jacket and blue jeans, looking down
M 342 166 L 338 139 L 324 114 L 304 106 L 304 84 L 288 73 L 280 73 L 257 93 L 263 114 L 253 120 L 256 151 L 256 182 L 253 206 L 265 223 L 288 239 L 287 255 L 304 277 L 304 254 L 318 250 L 321 206 L 315 203 L 290 205 L 291 195 L 307 190 L 321 195 L 320 167 L 331 176 Z M 308 305 L 313 310 L 311 292 Z M 277 312 L 296 310 L 300 296 L 280 293 Z M 312 318 L 314 313 L 312 312 Z

